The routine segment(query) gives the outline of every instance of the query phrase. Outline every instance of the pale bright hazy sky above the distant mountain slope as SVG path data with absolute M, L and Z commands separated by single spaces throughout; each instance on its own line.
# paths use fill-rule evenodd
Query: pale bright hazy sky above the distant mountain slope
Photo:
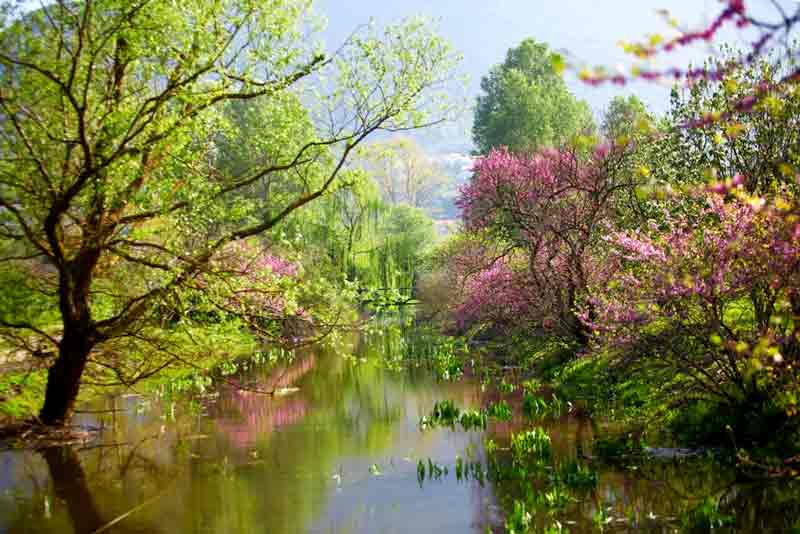
M 752 0 L 751 4 L 767 0 Z M 329 21 L 328 43 L 340 42 L 359 24 L 377 23 L 423 14 L 440 21 L 440 31 L 465 56 L 464 69 L 472 80 L 503 60 L 506 50 L 526 37 L 567 50 L 590 65 L 630 63 L 617 45 L 647 33 L 668 29 L 657 9 L 668 8 L 688 26 L 702 26 L 719 13 L 719 0 L 317 0 L 317 11 Z M 707 55 L 702 47 L 681 56 L 685 63 Z M 663 111 L 669 88 L 649 83 L 630 87 L 591 88 L 568 76 L 573 92 L 597 112 L 615 94 L 635 92 L 654 111 Z

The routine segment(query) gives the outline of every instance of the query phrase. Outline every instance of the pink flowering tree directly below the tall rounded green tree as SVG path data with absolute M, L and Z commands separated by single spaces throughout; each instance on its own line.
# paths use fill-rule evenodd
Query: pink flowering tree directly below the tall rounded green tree
M 589 329 L 577 309 L 615 268 L 602 236 L 635 186 L 626 154 L 604 146 L 588 156 L 574 149 L 530 156 L 495 150 L 479 159 L 458 205 L 466 231 L 500 243 L 504 254 L 467 281 L 461 313 L 474 321 L 488 310 L 496 318 L 496 308 L 586 342 Z

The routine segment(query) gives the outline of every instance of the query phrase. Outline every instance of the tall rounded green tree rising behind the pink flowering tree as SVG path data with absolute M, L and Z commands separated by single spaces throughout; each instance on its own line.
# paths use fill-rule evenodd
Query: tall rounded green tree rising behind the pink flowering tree
M 472 129 L 479 154 L 533 152 L 593 130 L 589 106 L 569 92 L 557 63 L 547 45 L 526 39 L 483 77 Z

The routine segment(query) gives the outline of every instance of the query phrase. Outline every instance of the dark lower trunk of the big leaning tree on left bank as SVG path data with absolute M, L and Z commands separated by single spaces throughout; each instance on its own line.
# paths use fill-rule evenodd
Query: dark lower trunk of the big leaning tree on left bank
M 39 412 L 42 423 L 58 426 L 69 422 L 92 345 L 88 332 L 64 332 L 59 344 L 58 358 L 47 371 L 44 406 Z

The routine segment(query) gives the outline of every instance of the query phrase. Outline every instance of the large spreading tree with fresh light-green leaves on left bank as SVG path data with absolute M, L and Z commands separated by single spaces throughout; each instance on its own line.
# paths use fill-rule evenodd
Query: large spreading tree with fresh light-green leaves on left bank
M 0 9 L 0 261 L 30 274 L 59 324 L 4 313 L 0 330 L 47 358 L 48 425 L 69 421 L 87 364 L 124 364 L 104 349 L 147 343 L 159 306 L 202 287 L 226 246 L 322 196 L 370 134 L 436 120 L 456 59 L 416 20 L 325 55 L 306 0 L 18 5 Z M 228 106 L 290 94 L 308 120 L 264 123 L 269 154 L 220 164 Z M 291 186 L 268 209 L 242 202 L 265 178 Z

